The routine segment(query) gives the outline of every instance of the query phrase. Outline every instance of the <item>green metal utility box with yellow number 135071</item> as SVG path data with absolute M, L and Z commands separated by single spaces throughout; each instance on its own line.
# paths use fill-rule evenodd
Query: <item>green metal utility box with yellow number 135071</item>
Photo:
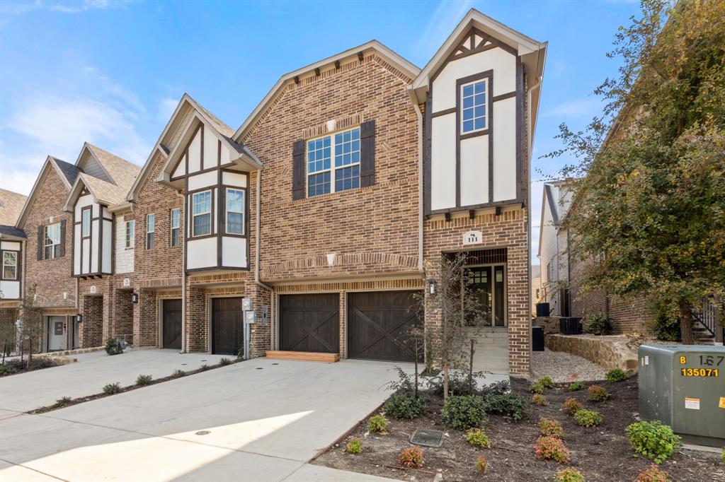
M 660 420 L 689 441 L 725 441 L 725 347 L 639 347 L 639 415 Z

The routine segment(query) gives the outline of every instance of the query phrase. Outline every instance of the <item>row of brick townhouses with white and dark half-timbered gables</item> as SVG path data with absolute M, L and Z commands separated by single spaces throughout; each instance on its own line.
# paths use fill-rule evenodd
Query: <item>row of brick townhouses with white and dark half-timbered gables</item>
M 413 360 L 410 326 L 442 317 L 415 295 L 466 252 L 529 373 L 546 48 L 471 10 L 423 69 L 370 41 L 283 75 L 236 130 L 184 95 L 141 169 L 89 143 L 49 156 L 1 229 L 3 321 L 35 285 L 43 350 Z

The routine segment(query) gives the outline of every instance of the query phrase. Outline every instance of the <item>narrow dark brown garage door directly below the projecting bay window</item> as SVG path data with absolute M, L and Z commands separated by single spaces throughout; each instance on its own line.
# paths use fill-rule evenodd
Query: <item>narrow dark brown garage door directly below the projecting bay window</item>
M 212 353 L 237 355 L 244 349 L 241 298 L 212 298 Z

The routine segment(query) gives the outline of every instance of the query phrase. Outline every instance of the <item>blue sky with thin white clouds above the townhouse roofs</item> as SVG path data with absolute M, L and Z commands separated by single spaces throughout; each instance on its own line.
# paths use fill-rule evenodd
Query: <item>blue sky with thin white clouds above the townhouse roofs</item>
M 284 73 L 373 38 L 423 67 L 471 7 L 549 42 L 533 164 L 556 172 L 538 156 L 600 111 L 590 93 L 636 3 L 5 0 L 0 187 L 27 194 L 48 154 L 75 162 L 84 141 L 143 164 L 184 92 L 236 129 Z M 541 182 L 532 196 L 537 262 Z

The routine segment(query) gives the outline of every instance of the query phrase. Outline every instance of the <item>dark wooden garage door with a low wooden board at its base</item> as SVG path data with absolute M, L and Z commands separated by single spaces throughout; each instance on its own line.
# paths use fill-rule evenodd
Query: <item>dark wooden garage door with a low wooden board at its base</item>
M 337 293 L 280 295 L 280 350 L 339 353 L 339 300 Z

